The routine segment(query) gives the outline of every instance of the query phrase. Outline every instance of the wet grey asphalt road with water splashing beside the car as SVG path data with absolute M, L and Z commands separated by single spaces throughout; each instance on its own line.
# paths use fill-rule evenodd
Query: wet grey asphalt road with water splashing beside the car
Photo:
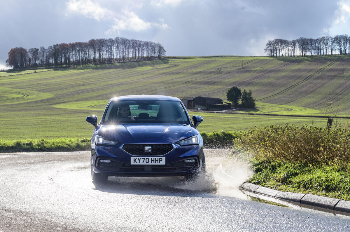
M 252 172 L 205 150 L 208 176 L 110 177 L 94 185 L 89 152 L 0 153 L 0 231 L 350 231 L 350 217 L 250 200 Z M 223 174 L 225 173 L 225 174 Z

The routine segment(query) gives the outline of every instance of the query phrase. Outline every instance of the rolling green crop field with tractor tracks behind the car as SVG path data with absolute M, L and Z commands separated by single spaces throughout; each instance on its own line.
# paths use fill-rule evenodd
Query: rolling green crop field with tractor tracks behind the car
M 204 57 L 0 73 L 2 139 L 90 137 L 85 117 L 101 118 L 108 100 L 131 94 L 210 96 L 226 100 L 232 86 L 251 89 L 250 113 L 323 115 L 334 101 L 350 116 L 350 56 L 303 58 Z M 242 69 L 243 62 L 243 69 Z M 344 65 L 344 73 L 343 73 Z M 245 130 L 267 124 L 313 124 L 324 118 L 190 112 L 201 131 Z M 343 120 L 347 123 L 346 120 Z

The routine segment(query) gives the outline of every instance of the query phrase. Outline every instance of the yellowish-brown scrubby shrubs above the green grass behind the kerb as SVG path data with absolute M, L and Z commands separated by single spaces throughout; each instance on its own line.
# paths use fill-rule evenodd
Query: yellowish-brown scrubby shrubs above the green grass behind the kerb
M 301 125 L 252 128 L 235 143 L 258 161 L 349 167 L 350 129 Z

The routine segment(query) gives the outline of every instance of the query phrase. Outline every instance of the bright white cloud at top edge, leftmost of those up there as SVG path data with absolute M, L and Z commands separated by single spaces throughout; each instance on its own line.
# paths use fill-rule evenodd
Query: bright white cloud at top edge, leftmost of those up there
M 98 21 L 106 17 L 110 18 L 113 15 L 112 11 L 91 0 L 69 0 L 69 2 L 66 2 L 66 7 L 70 13 L 79 13 Z

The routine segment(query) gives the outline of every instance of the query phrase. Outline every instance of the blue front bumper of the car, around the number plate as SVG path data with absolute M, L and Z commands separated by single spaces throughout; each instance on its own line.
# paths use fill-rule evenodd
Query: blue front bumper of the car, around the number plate
M 121 146 L 94 146 L 91 150 L 91 165 L 94 172 L 106 176 L 186 176 L 201 170 L 203 147 L 200 145 L 180 146 L 173 144 L 174 149 L 163 156 L 165 165 L 132 165 L 130 153 L 121 149 Z M 147 156 L 147 153 L 145 154 Z M 111 160 L 110 163 L 101 163 L 101 159 Z M 195 159 L 194 163 L 186 163 L 186 159 Z

